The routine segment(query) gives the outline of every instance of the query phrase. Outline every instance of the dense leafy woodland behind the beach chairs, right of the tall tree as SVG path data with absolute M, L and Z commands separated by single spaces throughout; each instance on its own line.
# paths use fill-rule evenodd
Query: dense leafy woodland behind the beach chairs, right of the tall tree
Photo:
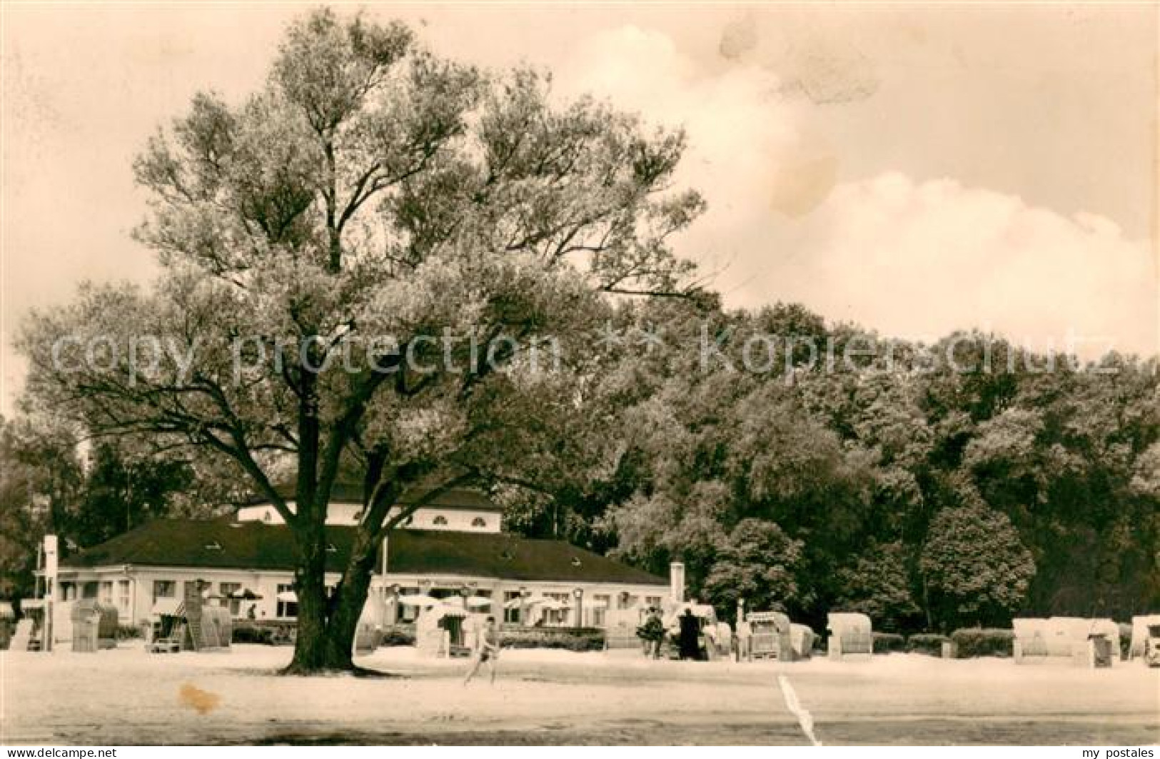
M 795 305 L 621 319 L 609 464 L 509 491 L 513 529 L 659 573 L 680 559 L 720 612 L 744 597 L 815 624 L 839 608 L 911 631 L 1160 606 L 1155 360 L 886 340 Z

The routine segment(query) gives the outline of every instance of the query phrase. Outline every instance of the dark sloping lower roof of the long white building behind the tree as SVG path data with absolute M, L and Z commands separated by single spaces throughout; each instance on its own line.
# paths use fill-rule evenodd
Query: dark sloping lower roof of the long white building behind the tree
M 328 526 L 328 571 L 341 571 L 355 528 Z M 193 566 L 293 569 L 293 541 L 284 525 L 225 520 L 157 520 L 65 558 L 61 566 Z M 377 563 L 380 565 L 380 559 Z M 564 541 L 507 533 L 398 529 L 387 543 L 391 574 L 452 574 L 506 580 L 667 585 L 668 580 Z

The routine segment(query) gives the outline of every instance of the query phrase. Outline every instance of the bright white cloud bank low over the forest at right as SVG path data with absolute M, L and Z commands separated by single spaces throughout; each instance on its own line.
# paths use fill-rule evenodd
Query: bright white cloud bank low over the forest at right
M 809 224 L 799 276 L 777 295 L 827 318 L 916 338 L 981 327 L 1038 347 L 1074 334 L 1093 340 L 1088 356 L 1102 340 L 1157 352 L 1152 250 L 1107 218 L 886 173 L 839 185 Z

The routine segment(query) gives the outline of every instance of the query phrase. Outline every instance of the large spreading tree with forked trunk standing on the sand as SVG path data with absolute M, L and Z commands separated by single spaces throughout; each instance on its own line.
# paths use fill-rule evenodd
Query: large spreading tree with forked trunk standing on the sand
M 200 94 L 151 140 L 138 238 L 160 279 L 35 315 L 29 390 L 97 434 L 232 460 L 297 547 L 288 671 L 353 668 L 404 489 L 549 470 L 544 441 L 565 438 L 599 371 L 583 342 L 606 294 L 689 287 L 666 243 L 703 204 L 670 189 L 683 146 L 599 101 L 558 103 L 536 72 L 311 13 L 260 92 Z M 536 338 L 554 340 L 556 370 Z M 324 525 L 350 456 L 365 503 L 328 599 Z

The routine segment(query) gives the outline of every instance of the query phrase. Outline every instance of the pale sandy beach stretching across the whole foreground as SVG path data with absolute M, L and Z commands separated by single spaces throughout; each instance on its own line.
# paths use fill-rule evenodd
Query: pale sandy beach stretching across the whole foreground
M 360 657 L 384 679 L 283 678 L 285 648 L 0 656 L 10 744 L 802 744 L 784 674 L 827 744 L 1160 740 L 1160 670 L 1016 667 L 916 655 L 869 663 L 647 662 L 505 651 L 499 681 L 413 649 Z M 631 715 L 631 716 L 630 716 Z

